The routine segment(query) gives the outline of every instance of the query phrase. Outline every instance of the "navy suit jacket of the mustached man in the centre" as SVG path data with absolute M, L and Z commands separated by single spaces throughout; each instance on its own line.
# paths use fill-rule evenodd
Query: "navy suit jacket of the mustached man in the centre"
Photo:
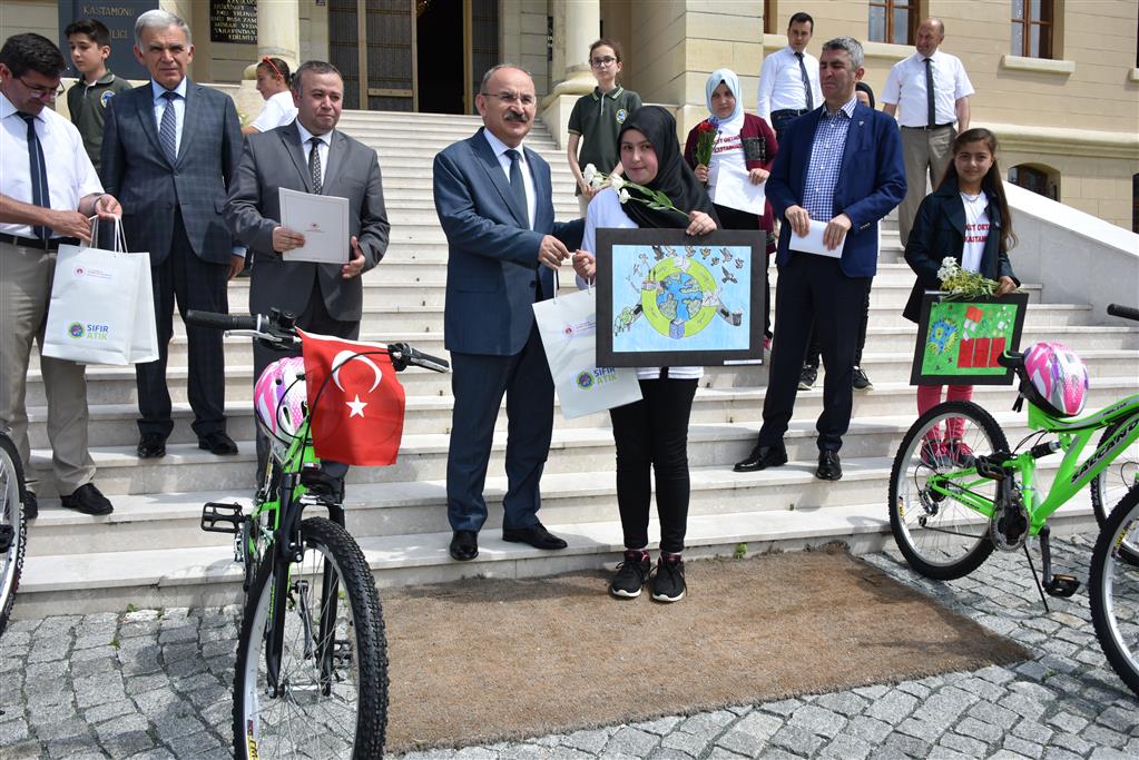
M 550 167 L 528 148 L 534 182 L 534 229 L 517 207 L 510 184 L 483 130 L 435 156 L 435 212 L 446 233 L 444 345 L 464 354 L 513 356 L 534 324 L 534 288 L 554 295 L 554 271 L 538 265 L 542 238 L 570 250 L 581 246 L 583 220 L 554 221 Z

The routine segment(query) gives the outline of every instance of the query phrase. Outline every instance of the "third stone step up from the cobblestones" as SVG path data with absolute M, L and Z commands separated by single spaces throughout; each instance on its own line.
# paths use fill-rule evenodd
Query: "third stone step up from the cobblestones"
M 1011 397 L 1009 399 L 1011 404 Z M 912 408 L 912 407 L 909 407 Z M 883 456 L 893 452 L 916 415 L 909 410 L 901 416 L 862 416 L 851 421 L 844 437 L 843 454 L 849 457 Z M 1019 440 L 1027 433 L 1025 421 L 1018 415 L 1002 413 L 1008 437 Z M 755 444 L 759 419 L 736 423 L 693 423 L 689 426 L 688 456 L 693 466 L 721 466 L 743 459 Z M 813 460 L 816 448 L 814 420 L 796 418 L 786 436 L 792 459 Z M 387 468 L 353 468 L 350 484 L 402 482 L 442 480 L 446 472 L 446 452 L 450 436 L 418 433 L 403 436 L 399 461 Z M 91 447 L 91 456 L 99 472 L 97 484 L 107 495 L 163 494 L 199 490 L 208 482 L 218 490 L 252 490 L 254 486 L 254 445 L 249 439 L 238 441 L 235 456 L 214 456 L 200 451 L 196 444 L 166 446 L 161 460 L 140 460 L 134 445 Z M 506 432 L 495 431 L 489 472 L 501 472 L 505 461 Z M 33 448 L 31 465 L 41 473 L 43 485 L 36 493 L 55 495 L 49 480 L 50 449 Z M 613 432 L 607 428 L 555 428 L 546 472 L 596 473 L 613 466 Z M 592 476 L 582 476 L 592 477 Z

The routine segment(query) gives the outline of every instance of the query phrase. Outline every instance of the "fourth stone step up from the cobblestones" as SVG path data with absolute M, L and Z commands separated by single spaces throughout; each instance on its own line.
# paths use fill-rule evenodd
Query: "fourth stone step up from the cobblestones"
M 795 404 L 796 414 L 803 419 L 814 419 L 822 411 L 822 385 L 825 372 L 812 390 L 800 391 Z M 765 374 L 764 374 L 765 379 Z M 870 378 L 871 381 L 874 378 Z M 236 386 L 237 383 L 235 383 Z M 252 440 L 254 437 L 254 416 L 252 407 L 252 386 L 241 386 L 245 393 L 231 389 L 226 408 L 227 430 L 235 439 Z M 762 416 L 763 399 L 767 393 L 764 386 L 754 388 L 740 387 L 704 387 L 697 390 L 693 405 L 691 421 L 704 422 L 754 422 Z M 1130 394 L 1139 393 L 1139 379 L 1098 380 L 1089 390 L 1087 408 L 1106 406 Z M 977 386 L 974 398 L 983 406 L 1002 408 L 1009 406 L 1015 398 L 1009 386 Z M 894 414 L 899 410 L 915 406 L 913 387 L 908 382 L 878 381 L 872 390 L 854 394 L 854 416 L 882 416 Z M 443 396 L 424 396 L 409 394 L 407 414 L 403 426 L 404 435 L 445 433 L 451 429 L 453 399 L 450 394 Z M 34 447 L 48 447 L 47 407 L 28 408 L 28 436 Z M 96 404 L 90 408 L 88 441 L 90 446 L 132 446 L 138 443 L 138 406 L 133 403 Z M 190 405 L 185 402 L 174 404 L 174 431 L 171 444 L 192 444 L 197 440 L 190 429 L 194 420 Z M 555 400 L 555 424 L 559 428 L 608 427 L 608 413 L 589 414 L 567 420 L 562 416 L 560 405 Z M 506 414 L 500 414 L 498 428 L 505 429 Z

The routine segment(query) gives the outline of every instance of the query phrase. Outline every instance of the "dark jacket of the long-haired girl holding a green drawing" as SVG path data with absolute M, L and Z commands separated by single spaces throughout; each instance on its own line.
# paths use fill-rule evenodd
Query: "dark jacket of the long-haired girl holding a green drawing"
M 1008 254 L 1000 249 L 1003 221 L 1000 217 L 997 198 L 993 196 L 989 196 L 988 213 L 989 238 L 985 239 L 985 247 L 981 253 L 980 272 L 990 280 L 1009 276 L 1016 284 L 1021 284 L 1013 274 Z M 937 279 L 941 261 L 952 256 L 960 264 L 964 251 L 965 203 L 958 191 L 957 177 L 952 177 L 925 197 L 918 208 L 918 215 L 913 218 L 909 242 L 906 245 L 906 263 L 918 275 L 918 281 L 913 283 L 913 290 L 906 301 L 902 316 L 910 322 L 918 321 L 921 295 L 926 290 L 941 289 L 941 280 Z

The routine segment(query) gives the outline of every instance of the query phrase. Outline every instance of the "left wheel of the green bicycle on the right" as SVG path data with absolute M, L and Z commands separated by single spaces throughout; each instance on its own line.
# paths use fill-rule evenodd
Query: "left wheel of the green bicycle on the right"
M 906 432 L 890 473 L 890 530 L 923 576 L 961 578 L 992 554 L 989 519 L 966 499 L 997 498 L 997 482 L 973 470 L 997 451 L 1008 451 L 1005 431 L 973 402 L 939 404 Z

